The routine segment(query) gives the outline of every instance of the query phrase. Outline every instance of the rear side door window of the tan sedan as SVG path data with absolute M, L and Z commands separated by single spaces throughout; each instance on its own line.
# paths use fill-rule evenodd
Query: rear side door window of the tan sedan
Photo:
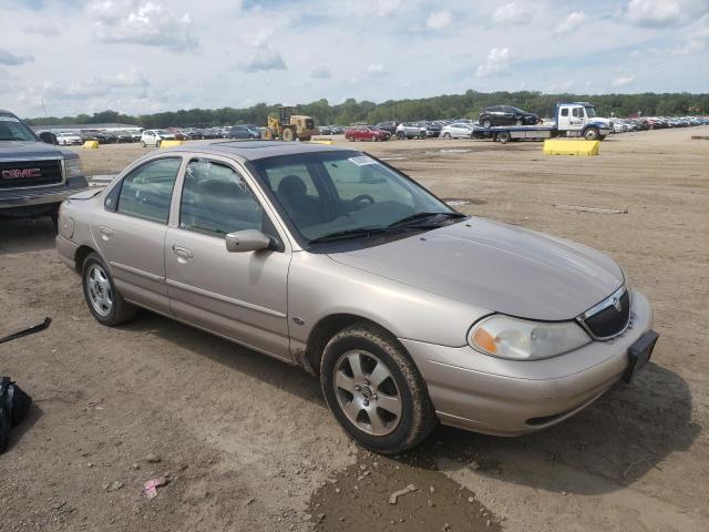
M 117 212 L 136 218 L 167 224 L 169 203 L 182 157 L 151 161 L 123 178 Z M 106 207 L 111 205 L 106 204 Z

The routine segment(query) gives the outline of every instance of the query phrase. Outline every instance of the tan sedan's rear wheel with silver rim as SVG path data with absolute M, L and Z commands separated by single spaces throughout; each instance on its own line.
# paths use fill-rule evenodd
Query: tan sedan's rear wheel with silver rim
M 86 256 L 81 279 L 89 310 L 99 323 L 116 326 L 135 317 L 137 308 L 115 289 L 109 268 L 97 254 L 90 253 Z

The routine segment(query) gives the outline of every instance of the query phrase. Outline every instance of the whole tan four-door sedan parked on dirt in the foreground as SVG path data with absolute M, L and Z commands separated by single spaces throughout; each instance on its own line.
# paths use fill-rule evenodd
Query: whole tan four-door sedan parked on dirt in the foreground
M 378 452 L 438 421 L 549 427 L 631 380 L 657 339 L 609 257 L 458 213 L 353 150 L 161 151 L 71 197 L 59 225 L 101 324 L 142 307 L 300 365 Z

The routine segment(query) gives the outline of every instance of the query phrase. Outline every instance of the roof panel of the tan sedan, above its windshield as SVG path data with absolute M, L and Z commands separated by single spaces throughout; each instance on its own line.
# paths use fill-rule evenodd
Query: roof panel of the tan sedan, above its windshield
M 327 146 L 323 144 L 315 144 L 309 142 L 281 142 L 281 141 L 216 141 L 198 145 L 185 144 L 183 146 L 172 147 L 171 152 L 202 152 L 213 155 L 237 156 L 247 161 L 256 161 L 259 158 L 275 157 L 278 155 L 297 155 L 300 153 L 316 152 L 341 152 L 352 151 L 351 149 L 342 149 Z

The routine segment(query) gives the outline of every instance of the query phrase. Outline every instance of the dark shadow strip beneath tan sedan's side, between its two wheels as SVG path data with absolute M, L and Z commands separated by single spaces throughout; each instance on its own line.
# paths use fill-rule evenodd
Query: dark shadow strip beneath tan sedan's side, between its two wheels
M 258 379 L 273 388 L 326 408 L 319 379 L 298 366 L 147 310 L 141 310 L 135 320 L 123 327 L 129 330 L 151 332 L 163 340 L 189 349 L 199 357 L 214 360 L 228 370 Z

